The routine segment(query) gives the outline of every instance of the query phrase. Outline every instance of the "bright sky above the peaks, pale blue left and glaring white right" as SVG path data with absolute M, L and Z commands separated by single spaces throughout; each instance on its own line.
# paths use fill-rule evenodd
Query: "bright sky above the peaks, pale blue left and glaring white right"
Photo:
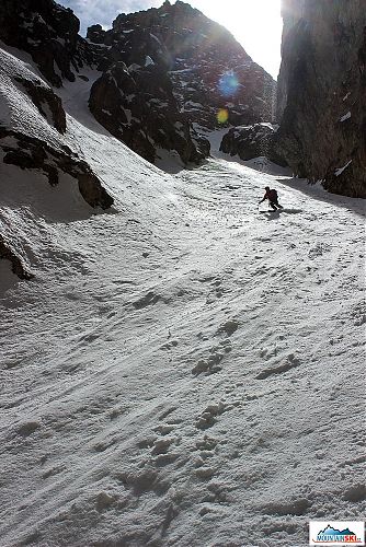
M 118 13 L 159 8 L 163 0 L 58 0 L 71 8 L 81 22 L 81 34 L 92 24 L 105 28 Z M 224 25 L 252 59 L 273 78 L 281 62 L 281 0 L 186 0 L 209 19 Z M 171 0 L 171 3 L 174 1 Z

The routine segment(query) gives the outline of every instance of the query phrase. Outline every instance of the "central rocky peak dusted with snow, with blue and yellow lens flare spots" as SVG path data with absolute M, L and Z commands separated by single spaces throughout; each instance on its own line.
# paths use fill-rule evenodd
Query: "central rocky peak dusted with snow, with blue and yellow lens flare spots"
M 90 27 L 88 38 L 104 72 L 92 89 L 91 110 L 150 161 L 159 148 L 175 150 L 184 163 L 206 156 L 209 147 L 193 126 L 272 117 L 271 75 L 228 31 L 187 3 L 121 14 L 111 31 Z

